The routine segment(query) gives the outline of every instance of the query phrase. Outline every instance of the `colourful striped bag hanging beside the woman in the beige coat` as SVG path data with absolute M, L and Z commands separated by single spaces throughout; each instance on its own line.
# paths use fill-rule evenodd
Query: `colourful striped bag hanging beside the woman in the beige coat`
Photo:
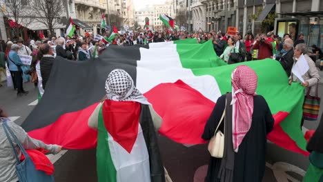
M 304 104 L 303 104 L 303 119 L 308 121 L 316 121 L 318 114 L 320 112 L 320 103 L 321 98 L 317 96 L 318 93 L 318 85 L 319 81 L 317 81 L 316 85 L 316 93 L 315 96 L 311 96 L 309 91 L 306 93 Z

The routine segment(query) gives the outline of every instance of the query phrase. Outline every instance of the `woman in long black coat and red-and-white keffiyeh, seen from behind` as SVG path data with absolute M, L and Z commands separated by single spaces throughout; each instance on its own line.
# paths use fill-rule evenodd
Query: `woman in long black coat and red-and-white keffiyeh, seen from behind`
M 232 92 L 217 99 L 202 139 L 210 140 L 225 114 L 219 130 L 224 133 L 224 156 L 211 156 L 207 182 L 258 182 L 265 170 L 266 135 L 274 119 L 264 97 L 255 93 L 257 74 L 246 65 L 233 70 Z M 225 125 L 225 127 L 224 127 Z

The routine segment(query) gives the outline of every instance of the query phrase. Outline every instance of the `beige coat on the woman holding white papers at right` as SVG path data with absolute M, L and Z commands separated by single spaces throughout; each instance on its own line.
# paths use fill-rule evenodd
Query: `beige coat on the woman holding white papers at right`
M 311 89 L 310 95 L 315 96 L 317 82 L 320 81 L 320 74 L 317 71 L 314 61 L 307 54 L 305 54 L 304 57 L 305 57 L 307 63 L 309 64 L 309 70 L 302 76 L 304 81 L 309 82 L 309 86 L 305 88 L 304 94 L 309 92 L 309 89 Z M 296 63 L 296 59 L 295 59 L 295 57 L 293 59 L 294 59 L 294 64 L 293 64 L 293 66 L 294 66 Z M 293 82 L 301 82 L 300 79 L 298 79 L 295 76 L 295 74 L 293 74 L 293 72 L 291 73 L 291 77 L 289 77 L 289 79 L 293 80 Z

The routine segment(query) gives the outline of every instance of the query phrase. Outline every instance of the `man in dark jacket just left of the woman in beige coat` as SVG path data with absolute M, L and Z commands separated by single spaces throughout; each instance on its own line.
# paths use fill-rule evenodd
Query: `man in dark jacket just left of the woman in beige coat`
M 282 57 L 280 58 L 280 64 L 282 64 L 282 67 L 284 68 L 287 76 L 291 76 L 291 69 L 293 68 L 293 57 L 294 57 L 294 43 L 292 39 L 286 39 L 283 44 L 284 54 L 282 54 Z

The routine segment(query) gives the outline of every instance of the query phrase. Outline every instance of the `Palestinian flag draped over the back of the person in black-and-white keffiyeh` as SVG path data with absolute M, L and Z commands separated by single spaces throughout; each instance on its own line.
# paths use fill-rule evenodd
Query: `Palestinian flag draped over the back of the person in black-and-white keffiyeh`
M 100 105 L 95 110 L 98 181 L 164 181 L 148 105 L 110 100 Z

